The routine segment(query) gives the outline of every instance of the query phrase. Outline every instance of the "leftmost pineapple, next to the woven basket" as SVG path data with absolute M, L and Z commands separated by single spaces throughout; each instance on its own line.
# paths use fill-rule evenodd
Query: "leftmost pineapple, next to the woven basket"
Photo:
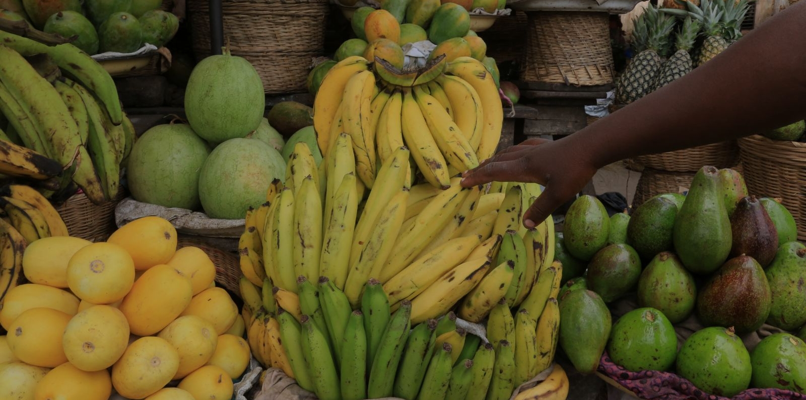
M 667 52 L 674 27 L 675 19 L 654 6 L 647 7 L 635 21 L 635 56 L 616 87 L 616 101 L 620 104 L 636 101 L 654 89 L 655 76 L 663 64 L 661 57 Z

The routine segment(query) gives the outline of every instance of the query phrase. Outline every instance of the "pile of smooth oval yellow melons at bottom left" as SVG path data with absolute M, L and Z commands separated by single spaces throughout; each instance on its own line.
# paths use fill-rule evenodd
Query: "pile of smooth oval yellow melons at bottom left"
M 210 258 L 177 249 L 168 221 L 147 216 L 106 242 L 44 237 L 0 254 L 30 282 L 2 298 L 0 398 L 106 400 L 113 388 L 125 398 L 231 398 L 249 362 L 243 320 L 215 287 Z

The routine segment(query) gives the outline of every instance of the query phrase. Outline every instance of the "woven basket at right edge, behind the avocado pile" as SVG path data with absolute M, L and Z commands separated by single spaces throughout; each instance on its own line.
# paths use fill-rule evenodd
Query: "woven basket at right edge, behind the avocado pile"
M 780 197 L 806 241 L 806 143 L 754 135 L 739 139 L 739 149 L 750 194 Z

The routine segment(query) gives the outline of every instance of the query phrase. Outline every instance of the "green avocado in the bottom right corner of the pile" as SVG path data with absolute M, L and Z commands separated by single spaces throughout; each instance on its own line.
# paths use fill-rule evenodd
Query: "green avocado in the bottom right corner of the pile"
M 750 353 L 750 386 L 806 394 L 806 343 L 789 333 L 762 339 Z

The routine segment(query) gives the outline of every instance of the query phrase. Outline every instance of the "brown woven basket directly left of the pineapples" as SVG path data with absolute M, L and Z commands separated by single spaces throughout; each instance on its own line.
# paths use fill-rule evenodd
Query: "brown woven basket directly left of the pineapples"
M 521 80 L 595 86 L 613 83 L 613 50 L 606 12 L 526 13 L 526 60 Z

